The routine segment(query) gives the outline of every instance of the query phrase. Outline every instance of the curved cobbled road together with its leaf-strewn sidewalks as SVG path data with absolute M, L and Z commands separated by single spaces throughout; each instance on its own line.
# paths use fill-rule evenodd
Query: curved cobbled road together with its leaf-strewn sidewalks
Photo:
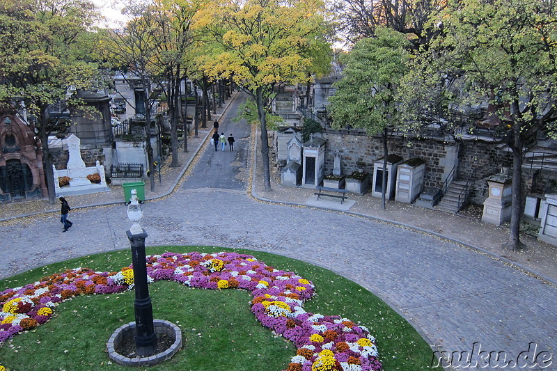
M 229 111 L 218 112 L 223 131 L 230 134 L 228 115 L 235 111 L 233 102 L 227 106 Z M 510 253 L 499 247 L 506 240 L 504 228 L 395 202 L 384 211 L 380 200 L 368 194 L 350 195 L 356 203 L 348 212 L 335 210 L 334 201 L 309 207 L 313 190 L 281 187 L 276 175 L 272 191 L 264 191 L 260 166 L 251 166 L 258 161 L 247 138 L 236 148 L 240 152 L 244 143 L 249 156 L 237 157 L 214 152 L 209 134 L 209 129 L 201 130 L 199 138 L 190 139 L 191 152 L 180 152 L 179 168 L 164 168 L 155 192 L 146 184 L 146 197 L 153 201 L 145 203 L 141 224 L 149 245 L 249 248 L 311 262 L 377 294 L 434 349 L 471 351 L 476 343 L 481 350 L 505 351 L 516 360 L 535 342 L 537 352 L 552 357 L 553 365 L 530 369 L 557 369 L 554 247 L 524 239 L 530 249 Z M 255 137 L 252 132 L 250 138 Z M 192 186 L 203 177 L 196 171 L 210 167 L 217 155 L 229 156 L 219 161 L 235 167 L 234 179 L 227 175 L 229 182 L 218 187 Z M 230 187 L 230 182 L 242 187 Z M 58 205 L 2 205 L 0 278 L 79 255 L 128 248 L 130 221 L 121 188 L 68 199 L 74 226 L 63 234 Z

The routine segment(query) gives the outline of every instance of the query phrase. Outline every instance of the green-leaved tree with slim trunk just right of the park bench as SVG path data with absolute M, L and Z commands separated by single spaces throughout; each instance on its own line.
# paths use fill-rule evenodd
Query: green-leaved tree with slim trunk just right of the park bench
M 400 121 L 395 100 L 400 80 L 407 73 L 409 42 L 402 33 L 378 27 L 375 38 L 364 38 L 346 56 L 343 77 L 329 97 L 334 127 L 351 125 L 381 134 L 384 152 L 382 207 L 385 209 L 389 130 Z

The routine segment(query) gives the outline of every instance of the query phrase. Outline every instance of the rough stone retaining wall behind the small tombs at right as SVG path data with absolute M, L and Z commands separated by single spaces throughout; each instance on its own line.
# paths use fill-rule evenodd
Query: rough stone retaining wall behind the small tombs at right
M 368 136 L 360 130 L 327 129 L 324 173 L 331 174 L 334 168 L 334 150 L 343 152 L 340 160 L 344 175 L 352 171 L 372 173 L 374 162 L 383 157 L 380 136 Z M 457 180 L 475 179 L 470 202 L 482 205 L 487 198 L 487 177 L 501 172 L 501 166 L 512 164 L 512 152 L 500 143 L 469 141 L 462 143 L 427 140 L 408 141 L 402 137 L 392 137 L 388 141 L 389 153 L 403 159 L 418 157 L 425 160 L 424 188 L 441 187 L 444 180 L 456 166 Z M 544 168 L 537 171 L 523 167 L 522 185 L 525 194 L 556 191 L 557 173 Z

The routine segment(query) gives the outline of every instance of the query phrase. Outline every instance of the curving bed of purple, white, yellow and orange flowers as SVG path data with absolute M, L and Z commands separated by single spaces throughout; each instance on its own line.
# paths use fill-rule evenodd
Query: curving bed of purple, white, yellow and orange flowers
M 147 258 L 148 280 L 180 282 L 210 290 L 228 288 L 253 294 L 251 312 L 263 326 L 297 347 L 288 371 L 381 370 L 375 338 L 365 326 L 339 316 L 306 312 L 313 284 L 239 253 L 164 253 Z M 53 309 L 80 294 L 131 290 L 133 269 L 97 272 L 70 269 L 42 281 L 0 292 L 0 342 L 47 322 Z

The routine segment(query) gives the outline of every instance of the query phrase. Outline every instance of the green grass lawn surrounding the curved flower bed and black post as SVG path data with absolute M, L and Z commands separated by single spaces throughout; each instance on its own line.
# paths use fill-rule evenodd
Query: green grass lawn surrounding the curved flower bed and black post
M 299 260 L 258 251 L 207 246 L 159 246 L 147 254 L 217 253 L 235 251 L 254 255 L 267 265 L 313 281 L 315 297 L 304 309 L 340 315 L 368 327 L 377 339 L 379 359 L 386 371 L 425 370 L 432 351 L 416 330 L 383 301 L 360 285 L 327 269 Z M 66 260 L 0 281 L 0 291 L 40 281 L 49 274 L 76 267 L 119 271 L 131 264 L 129 250 Z M 200 290 L 179 283 L 150 284 L 153 316 L 182 328 L 182 350 L 171 360 L 149 370 L 280 371 L 295 356 L 295 347 L 274 336 L 251 313 L 251 295 L 243 290 Z M 0 346 L 0 365 L 8 371 L 127 370 L 111 363 L 107 340 L 119 326 L 134 321 L 134 292 L 98 294 L 64 301 L 46 324 L 16 335 Z

